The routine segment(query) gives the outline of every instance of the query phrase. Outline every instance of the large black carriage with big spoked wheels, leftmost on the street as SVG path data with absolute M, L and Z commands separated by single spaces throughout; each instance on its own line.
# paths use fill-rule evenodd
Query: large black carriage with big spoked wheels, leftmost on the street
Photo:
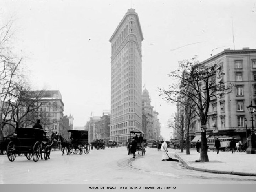
M 43 129 L 22 127 L 16 130 L 16 134 L 7 138 L 7 157 L 14 161 L 16 155 L 25 154 L 28 160 L 33 157 L 37 162 L 42 153 L 47 160 L 50 155 L 50 145 L 47 144 L 47 137 Z

